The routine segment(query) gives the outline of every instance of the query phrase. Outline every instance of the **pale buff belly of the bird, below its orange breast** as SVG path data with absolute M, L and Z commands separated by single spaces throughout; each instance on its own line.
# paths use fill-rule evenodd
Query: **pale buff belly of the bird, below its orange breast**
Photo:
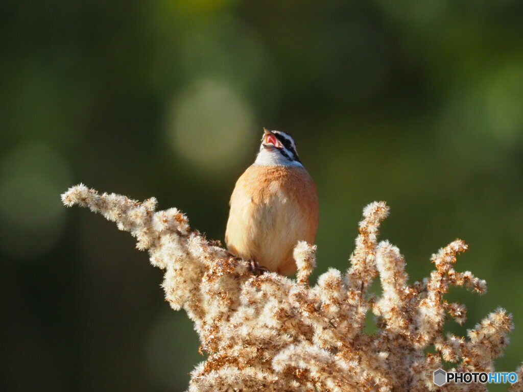
M 292 250 L 299 240 L 313 243 L 317 222 L 310 222 L 296 200 L 276 192 L 266 203 L 244 200 L 229 217 L 226 241 L 244 259 L 283 274 L 296 270 Z

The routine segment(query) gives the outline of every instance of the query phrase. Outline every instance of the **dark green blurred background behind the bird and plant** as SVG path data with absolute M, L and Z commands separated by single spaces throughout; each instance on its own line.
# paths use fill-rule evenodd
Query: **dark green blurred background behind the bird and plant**
M 203 357 L 128 233 L 79 182 L 177 206 L 223 240 L 262 126 L 290 132 L 320 198 L 318 267 L 346 269 L 361 209 L 412 280 L 456 237 L 523 359 L 523 2 L 5 0 L 0 3 L 0 389 L 183 391 Z M 492 387 L 491 390 L 505 390 Z

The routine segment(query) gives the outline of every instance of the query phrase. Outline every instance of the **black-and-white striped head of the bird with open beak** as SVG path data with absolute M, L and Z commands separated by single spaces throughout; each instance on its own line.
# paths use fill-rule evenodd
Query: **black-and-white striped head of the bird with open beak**
M 260 150 L 254 162 L 260 166 L 303 166 L 292 136 L 264 128 Z

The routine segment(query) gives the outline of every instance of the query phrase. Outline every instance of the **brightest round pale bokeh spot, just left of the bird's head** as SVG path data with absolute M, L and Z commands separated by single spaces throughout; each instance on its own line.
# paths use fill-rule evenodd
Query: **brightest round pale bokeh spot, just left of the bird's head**
M 176 153 L 214 174 L 251 153 L 253 123 L 251 106 L 230 86 L 200 80 L 175 99 L 167 137 Z

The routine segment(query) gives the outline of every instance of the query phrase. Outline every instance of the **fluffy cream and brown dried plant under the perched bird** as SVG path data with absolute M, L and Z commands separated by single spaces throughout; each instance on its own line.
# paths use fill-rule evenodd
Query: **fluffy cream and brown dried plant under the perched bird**
M 453 268 L 467 249 L 455 240 L 432 256 L 436 270 L 423 282 L 408 284 L 400 250 L 378 243 L 384 202 L 363 210 L 351 266 L 329 269 L 315 286 L 309 275 L 316 247 L 294 249 L 297 279 L 277 273 L 253 275 L 248 264 L 192 232 L 175 208 L 155 212 L 156 200 L 143 203 L 122 195 L 98 194 L 84 185 L 62 195 L 103 214 L 148 249 L 153 266 L 165 271 L 163 289 L 170 306 L 184 308 L 200 337 L 206 361 L 191 373 L 188 390 L 203 391 L 484 391 L 481 384 L 433 384 L 442 361 L 457 371 L 493 371 L 493 360 L 513 328 L 504 309 L 488 315 L 468 338 L 444 334 L 447 318 L 465 319 L 465 307 L 442 296 L 450 285 L 484 293 L 485 281 Z M 382 295 L 367 293 L 379 275 Z M 368 310 L 378 331 L 364 332 Z M 434 353 L 427 348 L 434 347 Z M 510 390 L 521 390 L 519 382 Z

